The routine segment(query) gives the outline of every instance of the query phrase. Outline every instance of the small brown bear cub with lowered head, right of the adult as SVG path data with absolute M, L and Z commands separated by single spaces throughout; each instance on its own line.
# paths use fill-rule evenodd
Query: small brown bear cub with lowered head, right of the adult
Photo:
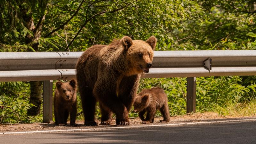
M 135 97 L 133 106 L 133 111 L 139 112 L 139 117 L 143 121 L 142 123 L 153 123 L 156 110 L 160 110 L 164 118 L 160 122 L 170 121 L 167 95 L 160 87 L 143 89 Z M 144 119 L 145 112 L 147 112 L 146 119 Z

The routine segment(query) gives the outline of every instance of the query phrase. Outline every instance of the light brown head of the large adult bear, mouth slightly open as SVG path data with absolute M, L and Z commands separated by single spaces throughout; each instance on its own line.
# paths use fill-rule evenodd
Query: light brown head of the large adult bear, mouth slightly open
M 148 40 L 132 40 L 124 36 L 120 40 L 124 47 L 124 53 L 131 68 L 129 75 L 148 73 L 152 66 L 153 50 L 156 47 L 156 37 L 151 36 Z

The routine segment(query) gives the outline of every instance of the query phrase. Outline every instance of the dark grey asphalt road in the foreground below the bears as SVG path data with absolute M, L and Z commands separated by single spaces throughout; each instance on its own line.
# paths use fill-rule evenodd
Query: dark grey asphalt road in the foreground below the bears
M 17 143 L 252 143 L 256 119 L 176 126 L 132 127 L 51 133 L 1 134 L 2 144 Z

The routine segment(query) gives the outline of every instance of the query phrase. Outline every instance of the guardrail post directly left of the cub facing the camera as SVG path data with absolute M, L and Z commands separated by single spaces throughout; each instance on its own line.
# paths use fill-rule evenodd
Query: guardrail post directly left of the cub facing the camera
M 52 122 L 52 80 L 44 81 L 43 86 L 43 122 Z

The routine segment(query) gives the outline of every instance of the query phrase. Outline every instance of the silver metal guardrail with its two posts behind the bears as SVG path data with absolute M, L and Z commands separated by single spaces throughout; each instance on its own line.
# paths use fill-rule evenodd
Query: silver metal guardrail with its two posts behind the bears
M 52 120 L 49 98 L 52 97 L 52 80 L 75 78 L 76 61 L 82 53 L 2 52 L 0 82 L 44 81 L 43 107 L 48 111 L 44 111 L 44 122 L 49 122 Z M 187 112 L 195 112 L 195 77 L 250 75 L 256 75 L 256 50 L 202 50 L 155 51 L 152 68 L 141 77 L 188 77 Z

